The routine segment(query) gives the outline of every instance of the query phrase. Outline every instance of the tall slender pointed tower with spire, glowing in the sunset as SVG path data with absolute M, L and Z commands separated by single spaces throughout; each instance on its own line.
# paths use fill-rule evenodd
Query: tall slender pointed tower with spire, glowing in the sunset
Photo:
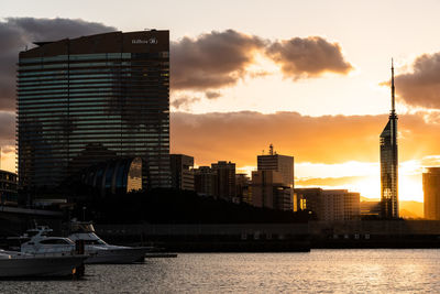
M 394 66 L 392 61 L 392 110 L 388 123 L 381 133 L 381 213 L 382 218 L 398 218 L 398 156 L 397 115 L 394 97 Z

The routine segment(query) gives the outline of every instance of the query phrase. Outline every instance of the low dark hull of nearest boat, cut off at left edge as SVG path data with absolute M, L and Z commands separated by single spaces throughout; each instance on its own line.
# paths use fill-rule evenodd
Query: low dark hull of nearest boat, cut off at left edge
M 84 271 L 88 257 L 45 255 L 0 250 L 0 277 L 68 276 Z M 84 274 L 84 272 L 81 272 Z

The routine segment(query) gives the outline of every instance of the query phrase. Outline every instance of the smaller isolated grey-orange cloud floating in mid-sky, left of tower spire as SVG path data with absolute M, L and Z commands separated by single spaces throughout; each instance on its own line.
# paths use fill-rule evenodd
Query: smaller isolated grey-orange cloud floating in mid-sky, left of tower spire
M 326 72 L 348 74 L 353 67 L 342 56 L 338 43 L 329 43 L 320 36 L 274 42 L 267 56 L 282 67 L 286 77 L 294 79 L 317 77 Z

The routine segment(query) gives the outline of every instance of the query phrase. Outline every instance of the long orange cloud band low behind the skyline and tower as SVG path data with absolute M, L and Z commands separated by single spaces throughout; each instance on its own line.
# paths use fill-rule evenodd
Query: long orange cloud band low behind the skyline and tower
M 399 117 L 400 161 L 440 154 L 440 124 L 427 123 L 425 113 Z M 172 113 L 172 152 L 194 155 L 198 164 L 231 160 L 255 165 L 256 155 L 273 143 L 296 162 L 377 162 L 378 135 L 387 116 L 308 117 L 297 112 L 263 115 Z

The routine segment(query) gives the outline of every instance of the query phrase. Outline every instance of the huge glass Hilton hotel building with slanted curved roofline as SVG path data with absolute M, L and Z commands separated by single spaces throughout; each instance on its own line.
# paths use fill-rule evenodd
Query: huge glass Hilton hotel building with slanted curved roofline
M 18 64 L 19 185 L 57 186 L 94 164 L 141 157 L 143 186 L 168 187 L 169 32 L 35 44 Z

